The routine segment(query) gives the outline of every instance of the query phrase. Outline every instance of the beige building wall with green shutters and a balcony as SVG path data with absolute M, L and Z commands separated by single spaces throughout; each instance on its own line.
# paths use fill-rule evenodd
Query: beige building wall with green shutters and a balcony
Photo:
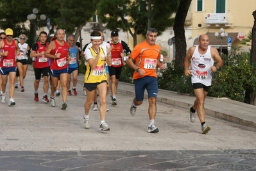
M 219 50 L 221 48 L 219 43 L 221 40 L 217 40 L 214 37 L 214 33 L 220 33 L 220 28 L 223 28 L 228 33 L 228 37 L 232 37 L 232 45 L 241 45 L 241 40 L 236 37 L 237 34 L 243 33 L 246 37 L 249 31 L 252 31 L 254 22 L 252 13 L 256 10 L 255 0 L 226 0 L 225 21 L 219 23 L 210 23 L 205 19 L 207 14 L 216 13 L 216 0 L 203 0 L 203 12 L 196 12 L 196 6 L 197 0 L 192 0 L 190 7 L 192 23 L 189 29 L 192 28 L 193 45 L 197 42 L 199 35 L 207 33 L 210 35 L 210 45 L 215 46 Z M 201 27 L 198 24 L 201 24 Z M 249 48 L 244 46 L 243 51 L 248 51 Z M 222 49 L 226 52 L 227 38 L 223 38 Z

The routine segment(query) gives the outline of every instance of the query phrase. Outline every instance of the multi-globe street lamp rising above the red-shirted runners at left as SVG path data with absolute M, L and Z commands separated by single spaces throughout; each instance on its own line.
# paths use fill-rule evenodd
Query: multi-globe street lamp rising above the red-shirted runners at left
M 30 20 L 30 36 L 33 37 L 34 42 L 37 42 L 37 8 L 34 8 L 33 13 L 28 15 L 28 20 Z M 45 20 L 46 15 L 40 15 L 40 20 Z

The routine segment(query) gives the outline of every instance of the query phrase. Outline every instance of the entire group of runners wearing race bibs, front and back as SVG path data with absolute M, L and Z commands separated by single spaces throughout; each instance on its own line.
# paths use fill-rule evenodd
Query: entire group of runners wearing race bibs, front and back
M 155 126 L 155 116 L 157 113 L 157 67 L 164 69 L 165 65 L 161 62 L 160 46 L 155 44 L 157 40 L 157 29 L 150 28 L 146 33 L 146 40 L 130 50 L 128 45 L 119 40 L 118 32 L 112 31 L 111 40 L 104 42 L 102 31 L 92 31 L 90 42 L 85 45 L 81 54 L 78 47 L 74 44 L 74 36 L 67 37 L 65 42 L 64 29 L 58 29 L 55 39 L 49 44 L 46 42 L 47 33 L 40 32 L 39 40 L 32 45 L 26 44 L 26 36 L 19 37 L 20 42 L 13 40 L 13 31 L 8 28 L 5 34 L 1 33 L 0 41 L 0 72 L 1 72 L 1 102 L 6 101 L 6 83 L 9 76 L 9 97 L 8 105 L 15 105 L 13 99 L 15 90 L 16 71 L 19 69 L 21 92 L 24 92 L 24 78 L 28 69 L 28 56 L 32 58 L 33 69 L 35 72 L 34 100 L 38 99 L 38 86 L 41 77 L 44 79 L 43 102 L 49 102 L 55 107 L 55 90 L 58 83 L 62 86 L 62 110 L 67 108 L 67 95 L 77 95 L 76 84 L 78 76 L 78 65 L 81 64 L 80 56 L 85 60 L 84 94 L 87 99 L 84 104 L 83 123 L 86 129 L 90 128 L 89 112 L 93 104 L 93 110 L 98 110 L 97 96 L 99 96 L 99 114 L 101 131 L 109 131 L 110 127 L 105 122 L 107 108 L 107 95 L 110 88 L 111 104 L 117 105 L 116 90 L 124 65 L 124 60 L 133 72 L 135 87 L 135 98 L 130 107 L 130 115 L 134 116 L 137 107 L 144 99 L 144 91 L 148 92 L 148 133 L 158 133 L 159 129 Z M 195 113 L 201 122 L 202 133 L 208 133 L 210 127 L 205 124 L 205 109 L 203 103 L 211 84 L 211 73 L 216 72 L 222 65 L 218 51 L 209 46 L 209 37 L 201 35 L 199 45 L 191 47 L 185 57 L 184 72 L 185 76 L 192 75 L 192 83 L 196 94 L 194 106 L 189 108 L 189 118 L 191 122 L 195 120 Z M 217 64 L 214 66 L 214 60 Z M 135 61 L 135 62 L 134 62 Z M 191 61 L 191 64 L 190 64 Z M 190 66 L 192 69 L 190 69 Z M 71 89 L 71 74 L 73 74 L 73 88 Z M 50 77 L 49 77 L 50 75 Z M 111 79 L 111 83 L 110 83 Z M 49 85 L 51 95 L 48 99 Z

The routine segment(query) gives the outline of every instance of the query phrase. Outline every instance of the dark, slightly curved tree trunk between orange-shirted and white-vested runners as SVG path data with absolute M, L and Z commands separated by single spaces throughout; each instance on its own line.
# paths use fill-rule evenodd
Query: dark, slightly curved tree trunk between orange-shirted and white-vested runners
M 175 65 L 176 67 L 183 68 L 183 62 L 187 51 L 187 44 L 185 38 L 185 19 L 187 17 L 187 12 L 189 11 L 189 6 L 192 0 L 181 0 L 178 6 L 178 10 L 175 16 L 175 25 L 173 30 L 175 31 Z

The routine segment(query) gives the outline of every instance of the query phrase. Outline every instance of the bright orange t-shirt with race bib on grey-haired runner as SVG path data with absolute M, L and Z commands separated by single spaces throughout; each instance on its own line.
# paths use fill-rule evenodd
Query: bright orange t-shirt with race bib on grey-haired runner
M 161 47 L 157 44 L 151 46 L 146 41 L 137 44 L 132 53 L 131 58 L 135 60 L 135 65 L 139 69 L 144 69 L 145 74 L 140 76 L 138 72 L 133 73 L 133 79 L 145 76 L 157 77 L 157 60 L 160 59 Z

